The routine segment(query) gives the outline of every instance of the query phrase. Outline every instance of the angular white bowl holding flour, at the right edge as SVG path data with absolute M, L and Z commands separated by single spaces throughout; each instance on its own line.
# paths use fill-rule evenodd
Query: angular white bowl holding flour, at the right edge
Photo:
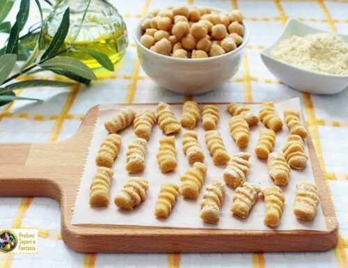
M 292 88 L 315 94 L 335 94 L 345 90 L 348 86 L 348 75 L 324 74 L 313 72 L 303 68 L 290 65 L 284 61 L 269 56 L 269 52 L 278 45 L 281 40 L 291 38 L 292 36 L 306 36 L 312 33 L 324 33 L 325 31 L 315 29 L 307 24 L 299 22 L 297 19 L 289 19 L 280 36 L 273 45 L 267 47 L 261 52 L 261 58 L 269 71 L 275 77 L 283 81 Z M 338 35 L 345 42 L 348 42 L 348 36 Z

